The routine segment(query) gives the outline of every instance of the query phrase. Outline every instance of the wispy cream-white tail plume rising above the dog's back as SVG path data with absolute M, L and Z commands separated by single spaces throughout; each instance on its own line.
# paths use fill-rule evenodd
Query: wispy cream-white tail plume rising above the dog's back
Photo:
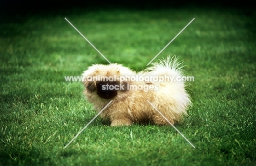
M 159 62 L 152 63 L 152 67 L 147 68 L 144 74 L 150 76 L 182 76 L 182 63 L 182 61 L 178 61 L 176 56 L 168 56 Z

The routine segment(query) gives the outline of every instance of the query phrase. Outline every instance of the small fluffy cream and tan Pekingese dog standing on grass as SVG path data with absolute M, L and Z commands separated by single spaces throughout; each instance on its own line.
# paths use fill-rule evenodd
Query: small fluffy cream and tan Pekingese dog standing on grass
M 121 64 L 94 64 L 82 76 L 86 98 L 111 121 L 110 126 L 130 126 L 132 123 L 152 122 L 170 125 L 187 115 L 190 97 L 181 80 L 181 63 L 167 57 L 142 72 L 134 72 Z M 178 79 L 179 78 L 179 79 Z

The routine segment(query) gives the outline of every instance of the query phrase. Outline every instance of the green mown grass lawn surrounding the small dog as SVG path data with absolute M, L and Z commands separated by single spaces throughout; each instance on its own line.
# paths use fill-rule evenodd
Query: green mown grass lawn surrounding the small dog
M 84 99 L 79 76 L 94 63 L 134 70 L 179 56 L 193 107 L 176 127 L 109 127 Z M 14 16 L 0 25 L 0 165 L 255 165 L 256 48 L 253 10 L 73 10 Z M 157 59 L 158 59 L 157 58 Z M 155 60 L 156 61 L 156 60 Z

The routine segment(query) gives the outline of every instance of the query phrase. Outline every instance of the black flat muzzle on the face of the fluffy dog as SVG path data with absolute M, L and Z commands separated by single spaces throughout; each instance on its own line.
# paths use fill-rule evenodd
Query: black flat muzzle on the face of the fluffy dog
M 117 82 L 98 82 L 96 84 L 97 94 L 101 98 L 110 99 L 117 96 Z

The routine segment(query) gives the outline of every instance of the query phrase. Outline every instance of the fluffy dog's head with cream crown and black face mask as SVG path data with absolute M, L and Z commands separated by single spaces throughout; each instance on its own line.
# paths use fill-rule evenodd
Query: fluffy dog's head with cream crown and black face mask
M 94 64 L 83 73 L 86 92 L 97 94 L 98 97 L 111 99 L 120 92 L 127 91 L 126 80 L 120 80 L 120 76 L 134 75 L 135 72 L 120 64 Z

